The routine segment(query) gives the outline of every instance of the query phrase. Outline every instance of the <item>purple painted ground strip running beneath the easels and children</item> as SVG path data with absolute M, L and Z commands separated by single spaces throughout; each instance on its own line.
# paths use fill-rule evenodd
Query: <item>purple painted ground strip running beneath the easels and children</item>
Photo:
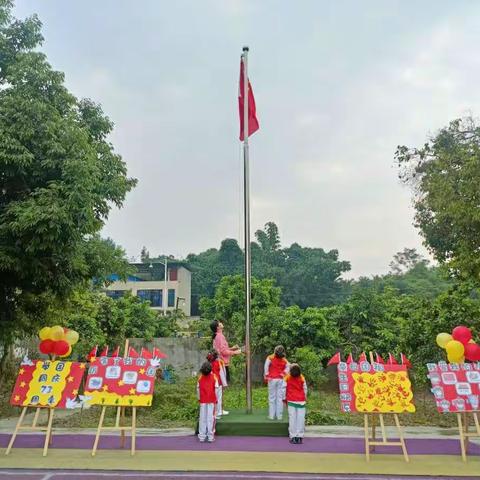
M 6 447 L 10 435 L 0 434 L 0 447 Z M 43 435 L 19 435 L 14 447 L 42 448 Z M 90 449 L 93 435 L 57 434 L 53 436 L 51 448 Z M 458 439 L 421 439 L 406 440 L 411 455 L 460 455 Z M 127 437 L 125 448 L 129 448 Z M 103 435 L 99 448 L 120 448 L 120 437 Z M 155 437 L 137 436 L 139 450 L 207 450 L 207 451 L 243 451 L 243 452 L 311 452 L 311 453 L 363 453 L 363 438 L 315 437 L 304 439 L 303 445 L 291 445 L 283 437 L 217 437 L 215 443 L 199 443 L 194 436 Z M 376 447 L 376 453 L 400 453 L 400 447 Z M 469 455 L 480 455 L 480 445 L 470 443 Z

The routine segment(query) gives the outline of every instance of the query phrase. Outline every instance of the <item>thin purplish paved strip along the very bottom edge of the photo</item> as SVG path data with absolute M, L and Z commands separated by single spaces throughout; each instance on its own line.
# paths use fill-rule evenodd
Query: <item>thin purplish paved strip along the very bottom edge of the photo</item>
M 0 470 L 0 479 L 11 480 L 454 480 L 458 477 L 420 477 L 420 476 L 385 476 L 385 475 L 305 475 L 279 474 L 261 472 L 104 472 L 104 471 L 28 471 Z M 470 477 L 474 478 L 474 477 Z M 479 477 L 480 478 L 480 477 Z

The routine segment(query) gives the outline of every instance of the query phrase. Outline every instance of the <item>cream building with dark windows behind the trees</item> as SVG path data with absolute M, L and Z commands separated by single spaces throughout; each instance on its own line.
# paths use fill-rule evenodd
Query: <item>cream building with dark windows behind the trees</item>
M 150 302 L 150 307 L 158 311 L 181 310 L 190 316 L 192 274 L 185 263 L 167 259 L 167 281 L 165 281 L 165 263 L 152 261 L 132 263 L 135 272 L 126 282 L 112 275 L 113 282 L 106 287 L 105 293 L 111 298 L 119 298 L 125 292 Z

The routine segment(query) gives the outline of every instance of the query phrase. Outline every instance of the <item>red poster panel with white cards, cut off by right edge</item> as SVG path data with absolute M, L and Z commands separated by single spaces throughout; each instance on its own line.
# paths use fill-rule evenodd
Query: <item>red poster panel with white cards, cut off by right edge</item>
M 427 369 L 440 413 L 479 410 L 480 363 L 427 363 Z

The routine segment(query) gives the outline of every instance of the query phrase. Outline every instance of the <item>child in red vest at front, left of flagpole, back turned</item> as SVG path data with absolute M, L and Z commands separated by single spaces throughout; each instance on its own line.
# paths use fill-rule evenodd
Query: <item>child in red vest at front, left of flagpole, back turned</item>
M 215 440 L 215 404 L 217 403 L 215 390 L 218 387 L 218 380 L 209 362 L 201 366 L 200 373 L 197 382 L 197 397 L 200 403 L 198 439 L 201 442 L 213 442 Z

